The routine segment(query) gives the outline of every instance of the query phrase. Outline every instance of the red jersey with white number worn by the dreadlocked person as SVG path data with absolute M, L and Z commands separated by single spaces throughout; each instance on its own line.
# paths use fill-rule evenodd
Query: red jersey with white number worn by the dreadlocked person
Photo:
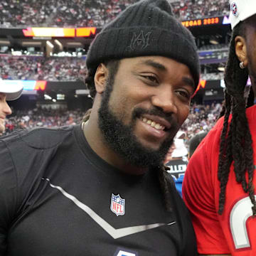
M 252 148 L 256 152 L 256 106 L 248 108 L 246 113 Z M 199 254 L 256 255 L 256 218 L 252 218 L 252 203 L 248 194 L 235 181 L 233 164 L 223 214 L 218 214 L 218 154 L 222 129 L 223 118 L 203 139 L 188 162 L 182 188 L 183 199 L 191 211 Z M 256 187 L 255 176 L 253 183 Z

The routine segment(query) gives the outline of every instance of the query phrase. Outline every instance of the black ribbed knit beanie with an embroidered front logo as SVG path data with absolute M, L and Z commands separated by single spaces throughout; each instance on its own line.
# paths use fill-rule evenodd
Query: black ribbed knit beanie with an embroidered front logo
M 108 60 L 148 55 L 187 65 L 198 85 L 200 68 L 194 38 L 174 18 L 166 0 L 142 0 L 122 11 L 92 41 L 86 64 L 96 72 L 97 66 Z

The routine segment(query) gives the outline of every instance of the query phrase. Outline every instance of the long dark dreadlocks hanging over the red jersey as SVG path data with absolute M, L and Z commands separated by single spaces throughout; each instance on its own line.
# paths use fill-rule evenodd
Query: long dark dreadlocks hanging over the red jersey
M 240 61 L 235 54 L 235 37 L 245 38 L 245 23 L 241 22 L 233 29 L 230 40 L 228 62 L 225 68 L 225 101 L 220 116 L 224 116 L 223 130 L 220 136 L 220 153 L 218 160 L 218 180 L 220 181 L 219 209 L 222 214 L 225 205 L 225 190 L 233 163 L 235 179 L 248 193 L 252 202 L 252 213 L 256 215 L 254 186 L 252 184 L 254 164 L 252 137 L 250 134 L 244 97 L 248 71 L 239 67 Z M 230 114 L 232 118 L 229 124 Z M 246 175 L 248 178 L 246 178 Z

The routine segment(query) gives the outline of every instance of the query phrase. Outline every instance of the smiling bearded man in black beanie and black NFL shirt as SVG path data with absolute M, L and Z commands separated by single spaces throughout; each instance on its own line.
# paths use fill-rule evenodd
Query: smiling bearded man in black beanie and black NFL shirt
M 197 255 L 164 156 L 199 63 L 166 0 L 130 6 L 87 55 L 84 122 L 0 139 L 0 255 Z

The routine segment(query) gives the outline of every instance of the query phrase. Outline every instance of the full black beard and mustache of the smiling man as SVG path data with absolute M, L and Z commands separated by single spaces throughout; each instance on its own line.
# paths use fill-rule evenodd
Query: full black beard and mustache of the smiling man
M 138 141 L 133 133 L 136 119 L 145 113 L 164 117 L 173 124 L 172 129 L 169 131 L 170 134 L 175 134 L 175 132 L 178 131 L 178 124 L 174 122 L 171 115 L 166 117 L 166 114 L 160 110 L 154 109 L 148 111 L 142 108 L 137 108 L 132 112 L 132 121 L 130 124 L 123 124 L 122 121 L 112 113 L 109 107 L 113 83 L 114 78 L 110 75 L 110 79 L 107 80 L 106 90 L 102 95 L 100 109 L 98 110 L 98 124 L 105 141 L 112 150 L 122 157 L 122 159 L 133 166 L 142 168 L 160 166 L 163 164 L 167 151 L 173 143 L 173 137 L 170 136 L 166 139 L 158 150 L 148 149 Z

